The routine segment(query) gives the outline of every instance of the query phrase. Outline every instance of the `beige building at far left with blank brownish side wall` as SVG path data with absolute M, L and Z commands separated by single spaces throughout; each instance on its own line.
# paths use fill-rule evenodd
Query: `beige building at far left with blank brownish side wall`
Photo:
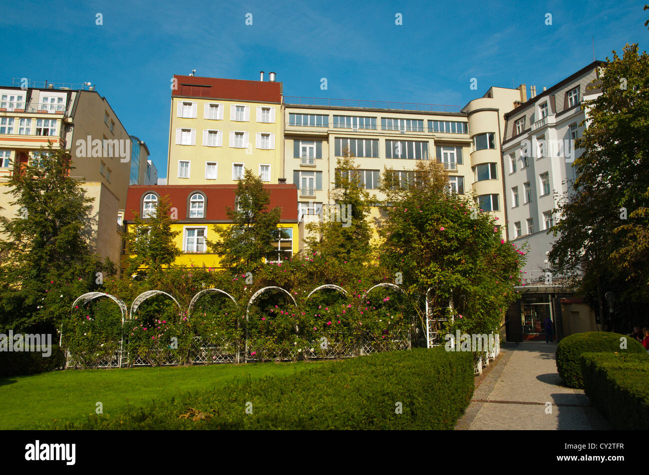
M 0 211 L 15 216 L 6 181 L 40 148 L 64 148 L 70 175 L 84 182 L 92 203 L 93 246 L 102 258 L 119 262 L 118 216 L 129 187 L 132 143 L 117 114 L 94 87 L 0 87 Z M 148 155 L 148 150 L 147 150 Z M 146 163 L 146 156 L 144 157 Z

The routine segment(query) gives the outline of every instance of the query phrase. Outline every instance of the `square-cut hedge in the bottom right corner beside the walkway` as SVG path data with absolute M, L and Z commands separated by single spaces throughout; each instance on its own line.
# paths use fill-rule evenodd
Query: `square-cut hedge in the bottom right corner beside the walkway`
M 584 353 L 583 384 L 614 429 L 649 430 L 649 354 Z

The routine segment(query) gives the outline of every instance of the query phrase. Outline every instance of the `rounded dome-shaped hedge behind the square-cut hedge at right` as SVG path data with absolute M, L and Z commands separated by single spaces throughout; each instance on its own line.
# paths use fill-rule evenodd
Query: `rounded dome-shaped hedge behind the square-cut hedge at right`
M 627 349 L 620 349 L 620 338 L 626 338 Z M 583 389 L 583 353 L 646 353 L 642 343 L 626 335 L 611 332 L 576 333 L 563 338 L 557 345 L 557 371 L 569 388 Z

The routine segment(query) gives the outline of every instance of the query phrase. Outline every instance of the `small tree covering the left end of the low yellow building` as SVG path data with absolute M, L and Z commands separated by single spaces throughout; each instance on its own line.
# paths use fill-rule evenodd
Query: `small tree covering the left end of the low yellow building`
M 148 218 L 140 218 L 140 213 L 133 212 L 133 224 L 124 236 L 129 249 L 129 273 L 142 268 L 157 273 L 163 267 L 171 266 L 182 254 L 174 242 L 180 231 L 171 228 L 170 206 L 169 198 L 162 196 Z

